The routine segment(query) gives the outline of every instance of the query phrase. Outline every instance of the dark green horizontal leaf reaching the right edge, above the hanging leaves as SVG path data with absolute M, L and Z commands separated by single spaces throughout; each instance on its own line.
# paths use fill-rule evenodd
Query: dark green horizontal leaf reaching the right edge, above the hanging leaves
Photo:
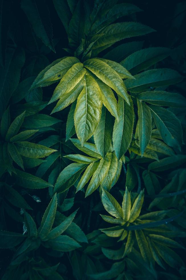
M 168 106 L 175 108 L 186 107 L 186 99 L 181 94 L 167 91 L 144 91 L 138 94 L 140 101 L 153 105 Z

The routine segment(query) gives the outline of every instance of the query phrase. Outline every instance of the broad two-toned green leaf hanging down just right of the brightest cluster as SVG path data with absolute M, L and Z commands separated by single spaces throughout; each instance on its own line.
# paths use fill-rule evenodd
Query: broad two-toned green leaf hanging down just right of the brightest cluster
M 132 99 L 129 100 L 130 106 L 118 96 L 119 121 L 115 120 L 113 130 L 113 147 L 118 160 L 126 153 L 132 139 L 134 109 Z

